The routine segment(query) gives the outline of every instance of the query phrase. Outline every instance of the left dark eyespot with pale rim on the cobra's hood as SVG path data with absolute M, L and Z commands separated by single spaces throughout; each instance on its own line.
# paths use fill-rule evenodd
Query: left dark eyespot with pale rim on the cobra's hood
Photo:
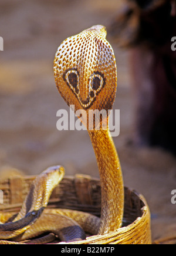
M 69 69 L 63 75 L 67 85 L 76 93 L 79 92 L 79 72 L 76 69 Z

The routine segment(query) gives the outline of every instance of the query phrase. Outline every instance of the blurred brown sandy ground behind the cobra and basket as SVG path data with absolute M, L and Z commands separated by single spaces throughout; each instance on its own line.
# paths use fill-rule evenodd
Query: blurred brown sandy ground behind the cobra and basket
M 119 4 L 117 4 L 117 2 Z M 53 58 L 68 36 L 92 25 L 109 25 L 116 0 L 1 0 L 0 36 L 0 166 L 39 174 L 62 164 L 67 175 L 99 177 L 86 131 L 57 131 L 56 112 L 67 109 L 53 78 Z M 111 42 L 111 39 L 107 37 Z M 128 52 L 111 42 L 117 61 L 118 89 L 114 109 L 120 109 L 120 135 L 114 137 L 124 184 L 144 195 L 151 211 L 153 240 L 176 235 L 176 160 L 159 148 L 134 148 L 134 99 L 130 87 Z

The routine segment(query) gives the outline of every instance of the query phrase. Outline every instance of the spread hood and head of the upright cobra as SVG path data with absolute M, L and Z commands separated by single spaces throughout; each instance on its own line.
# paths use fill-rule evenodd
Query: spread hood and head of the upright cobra
M 106 28 L 95 25 L 65 39 L 55 55 L 54 75 L 57 89 L 75 111 L 84 109 L 89 116 L 89 109 L 111 109 L 117 74 Z

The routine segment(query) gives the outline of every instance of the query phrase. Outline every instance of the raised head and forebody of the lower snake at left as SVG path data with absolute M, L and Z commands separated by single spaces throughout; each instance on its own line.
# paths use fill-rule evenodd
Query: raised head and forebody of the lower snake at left
M 0 239 L 22 234 L 40 217 L 53 188 L 63 178 L 64 173 L 63 167 L 58 166 L 46 169 L 35 179 L 18 215 L 11 222 L 0 224 Z

